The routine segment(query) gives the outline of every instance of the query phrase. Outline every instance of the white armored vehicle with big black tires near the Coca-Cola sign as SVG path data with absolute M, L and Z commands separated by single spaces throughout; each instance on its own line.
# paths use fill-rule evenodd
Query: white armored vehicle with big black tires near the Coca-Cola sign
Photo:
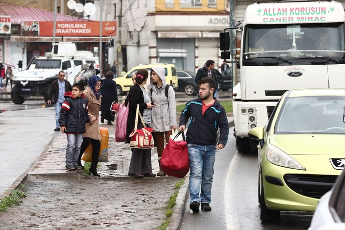
M 30 96 L 48 98 L 53 80 L 57 79 L 59 71 L 65 72 L 65 79 L 71 85 L 80 72 L 81 65 L 94 63 L 99 68 L 99 57 L 91 51 L 77 51 L 76 45 L 71 42 L 59 42 L 52 45 L 51 52 L 46 56 L 33 57 L 27 65 L 27 70 L 13 76 L 14 87 L 11 90 L 11 99 L 15 104 L 22 104 Z

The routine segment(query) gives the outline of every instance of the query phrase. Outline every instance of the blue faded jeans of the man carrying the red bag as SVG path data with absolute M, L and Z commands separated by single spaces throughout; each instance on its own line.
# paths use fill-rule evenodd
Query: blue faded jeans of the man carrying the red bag
M 190 203 L 211 203 L 215 145 L 188 144 Z M 201 192 L 200 192 L 201 189 Z M 200 194 L 200 196 L 199 196 Z

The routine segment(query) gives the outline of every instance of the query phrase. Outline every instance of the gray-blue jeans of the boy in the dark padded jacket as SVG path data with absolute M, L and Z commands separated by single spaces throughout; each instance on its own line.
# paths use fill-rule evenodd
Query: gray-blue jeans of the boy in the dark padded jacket
M 67 134 L 66 166 L 77 166 L 82 133 Z

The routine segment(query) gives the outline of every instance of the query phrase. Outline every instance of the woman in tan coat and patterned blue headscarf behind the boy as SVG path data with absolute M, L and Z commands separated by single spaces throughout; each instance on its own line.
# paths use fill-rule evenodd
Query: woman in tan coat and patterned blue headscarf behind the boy
M 92 161 L 89 169 L 93 176 L 100 177 L 97 173 L 98 157 L 101 148 L 101 134 L 98 129 L 98 118 L 100 114 L 100 107 L 102 102 L 101 87 L 103 80 L 97 75 L 92 76 L 87 81 L 87 87 L 84 90 L 85 98 L 87 99 L 89 110 L 88 115 L 91 122 L 86 124 L 86 132 L 83 134 L 82 143 L 80 147 L 80 155 L 78 158 L 78 165 L 81 165 L 81 156 L 89 146 L 92 144 Z

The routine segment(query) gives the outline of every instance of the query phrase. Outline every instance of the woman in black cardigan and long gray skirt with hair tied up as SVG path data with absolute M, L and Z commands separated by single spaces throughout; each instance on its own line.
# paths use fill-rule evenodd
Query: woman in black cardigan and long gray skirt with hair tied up
M 150 96 L 144 89 L 144 85 L 148 79 L 148 76 L 149 72 L 146 69 L 139 69 L 136 72 L 136 83 L 130 89 L 128 97 L 125 101 L 126 106 L 128 106 L 128 103 L 130 103 L 126 133 L 128 143 L 130 143 L 131 141 L 129 135 L 134 129 L 137 104 L 139 104 L 139 112 L 143 117 L 145 126 L 151 126 L 152 108 L 154 108 L 155 105 L 151 103 Z M 143 128 L 140 117 L 138 117 L 138 129 L 139 128 Z M 151 149 L 132 149 L 132 158 L 128 176 L 135 178 L 156 177 L 156 174 L 152 173 Z

